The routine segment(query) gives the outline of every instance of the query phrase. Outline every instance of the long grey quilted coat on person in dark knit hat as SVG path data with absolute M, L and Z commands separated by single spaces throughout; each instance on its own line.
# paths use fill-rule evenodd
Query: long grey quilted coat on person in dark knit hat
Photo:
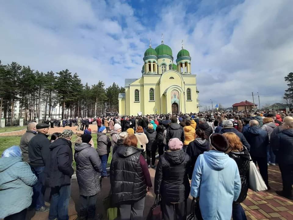
M 101 160 L 98 152 L 87 143 L 75 143 L 74 160 L 79 194 L 94 196 L 101 191 Z

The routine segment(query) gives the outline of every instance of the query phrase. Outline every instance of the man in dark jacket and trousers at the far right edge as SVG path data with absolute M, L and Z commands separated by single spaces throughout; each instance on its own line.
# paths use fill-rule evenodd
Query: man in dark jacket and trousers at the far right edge
M 273 146 L 273 152 L 279 162 L 283 181 L 283 190 L 276 191 L 276 193 L 289 200 L 293 200 L 293 122 L 285 122 L 282 125 L 282 129 L 281 133 L 276 134 L 270 139 L 270 144 Z

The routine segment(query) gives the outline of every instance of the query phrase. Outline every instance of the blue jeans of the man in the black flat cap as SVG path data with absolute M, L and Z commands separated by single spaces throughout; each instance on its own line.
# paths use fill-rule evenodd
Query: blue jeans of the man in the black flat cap
M 38 178 L 38 181 L 33 186 L 34 195 L 32 197 L 33 201 L 32 204 L 35 209 L 40 209 L 42 206 L 45 206 L 45 186 L 42 184 L 44 178 L 44 168 L 45 167 L 34 167 L 31 166 L 31 170 Z

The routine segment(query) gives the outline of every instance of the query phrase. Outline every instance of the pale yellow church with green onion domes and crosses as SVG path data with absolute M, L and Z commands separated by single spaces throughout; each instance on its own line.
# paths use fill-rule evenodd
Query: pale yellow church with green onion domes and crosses
M 164 44 L 150 47 L 143 57 L 142 77 L 125 79 L 125 93 L 119 93 L 119 115 L 177 114 L 198 112 L 199 91 L 191 74 L 191 57 L 183 48 L 173 63 L 172 50 Z

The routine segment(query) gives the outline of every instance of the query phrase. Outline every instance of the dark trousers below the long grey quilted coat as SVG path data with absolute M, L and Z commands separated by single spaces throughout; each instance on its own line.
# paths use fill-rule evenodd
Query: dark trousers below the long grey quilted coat
M 96 202 L 97 196 L 79 196 L 79 210 L 80 217 L 87 217 L 88 219 L 96 217 Z

